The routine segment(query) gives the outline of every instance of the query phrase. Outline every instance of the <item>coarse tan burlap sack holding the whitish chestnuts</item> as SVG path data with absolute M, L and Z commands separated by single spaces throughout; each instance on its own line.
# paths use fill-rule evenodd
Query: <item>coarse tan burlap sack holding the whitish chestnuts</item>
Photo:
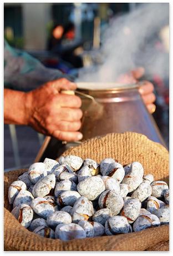
M 142 134 L 108 134 L 104 137 L 85 141 L 63 155 L 75 154 L 82 158 L 93 158 L 97 162 L 106 157 L 118 159 L 120 163 L 139 161 L 145 173 L 152 173 L 155 180 L 169 181 L 169 153 L 162 145 L 152 142 Z M 95 237 L 63 242 L 39 237 L 13 217 L 8 204 L 8 187 L 17 179 L 16 170 L 4 174 L 4 250 L 169 250 L 169 226 L 149 228 L 141 232 L 119 234 L 111 237 Z

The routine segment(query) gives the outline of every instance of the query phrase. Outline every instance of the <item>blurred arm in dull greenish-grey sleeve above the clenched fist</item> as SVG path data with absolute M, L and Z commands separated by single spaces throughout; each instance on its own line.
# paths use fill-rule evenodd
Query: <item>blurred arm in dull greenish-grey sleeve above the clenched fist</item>
M 15 88 L 19 91 L 32 91 L 43 83 L 67 78 L 73 81 L 72 76 L 63 74 L 57 69 L 46 68 L 42 63 L 28 53 L 10 47 L 7 42 L 4 46 L 4 85 L 6 88 Z

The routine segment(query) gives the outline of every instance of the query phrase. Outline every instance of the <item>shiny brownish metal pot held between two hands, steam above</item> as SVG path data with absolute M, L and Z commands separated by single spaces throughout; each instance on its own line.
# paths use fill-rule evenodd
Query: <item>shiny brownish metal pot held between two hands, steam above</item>
M 89 86 L 92 87 L 92 84 Z M 149 139 L 165 145 L 154 118 L 138 92 L 137 83 L 106 83 L 105 87 L 108 89 L 78 89 L 79 93 L 91 97 L 80 96 L 83 110 L 80 132 L 83 139 L 129 131 L 145 134 Z M 94 104 L 92 97 L 99 104 Z

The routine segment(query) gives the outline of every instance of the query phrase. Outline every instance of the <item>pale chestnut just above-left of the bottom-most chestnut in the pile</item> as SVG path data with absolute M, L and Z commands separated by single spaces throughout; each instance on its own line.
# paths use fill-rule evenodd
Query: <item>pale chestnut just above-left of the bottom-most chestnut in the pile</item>
M 46 222 L 50 228 L 54 229 L 59 224 L 72 223 L 72 217 L 69 213 L 58 210 L 57 212 L 49 214 Z

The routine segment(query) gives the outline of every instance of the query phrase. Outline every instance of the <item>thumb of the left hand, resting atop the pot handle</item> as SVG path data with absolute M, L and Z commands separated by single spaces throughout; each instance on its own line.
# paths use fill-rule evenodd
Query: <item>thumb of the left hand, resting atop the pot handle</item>
M 54 81 L 49 82 L 49 86 L 60 92 L 63 90 L 75 90 L 77 88 L 77 85 L 73 82 L 70 82 L 66 78 L 60 78 Z

